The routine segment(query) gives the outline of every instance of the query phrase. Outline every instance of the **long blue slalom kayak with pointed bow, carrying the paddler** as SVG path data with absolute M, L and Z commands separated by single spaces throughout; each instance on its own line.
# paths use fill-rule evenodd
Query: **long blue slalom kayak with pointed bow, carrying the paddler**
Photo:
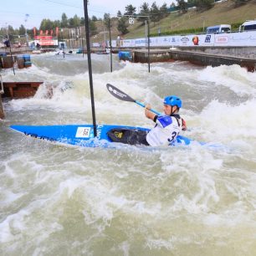
M 143 127 L 125 126 L 125 125 L 96 125 L 97 136 L 94 137 L 93 125 L 11 125 L 15 131 L 22 132 L 26 136 L 31 136 L 40 140 L 53 141 L 75 146 L 86 147 L 113 147 L 115 143 L 124 142 L 117 138 L 115 141 L 110 136 L 110 132 L 115 131 L 128 131 L 130 134 L 132 131 L 150 131 L 150 129 Z M 112 139 L 111 139 L 112 138 Z M 124 138 L 122 138 L 124 139 Z M 184 136 L 177 136 L 177 140 L 174 145 L 189 145 L 192 140 Z M 133 144 L 134 145 L 134 144 Z

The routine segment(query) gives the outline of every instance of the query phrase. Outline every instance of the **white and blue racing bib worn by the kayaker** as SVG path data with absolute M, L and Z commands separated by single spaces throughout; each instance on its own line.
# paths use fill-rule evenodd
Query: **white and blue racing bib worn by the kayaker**
M 150 146 L 168 146 L 176 140 L 182 131 L 182 119 L 179 115 L 156 115 L 156 126 L 146 135 Z

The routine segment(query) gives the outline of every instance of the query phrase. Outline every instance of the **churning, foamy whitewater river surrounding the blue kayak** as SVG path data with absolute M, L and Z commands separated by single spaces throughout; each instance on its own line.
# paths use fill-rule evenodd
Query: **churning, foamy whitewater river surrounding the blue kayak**
M 256 255 L 256 73 L 237 65 L 119 62 L 92 54 L 98 124 L 152 127 L 143 109 L 183 100 L 183 135 L 208 144 L 141 150 L 61 146 L 9 125 L 91 124 L 86 56 L 32 56 L 4 81 L 44 81 L 4 102 L 0 121 L 1 255 Z

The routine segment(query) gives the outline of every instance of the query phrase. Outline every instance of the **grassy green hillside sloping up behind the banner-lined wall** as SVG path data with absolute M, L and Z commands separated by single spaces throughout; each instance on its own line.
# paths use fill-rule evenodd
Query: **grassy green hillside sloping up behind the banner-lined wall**
M 203 28 L 216 24 L 231 24 L 232 29 L 238 29 L 238 26 L 248 19 L 256 19 L 256 1 L 253 0 L 243 6 L 235 8 L 235 3 L 228 0 L 223 3 L 216 3 L 213 8 L 205 12 L 189 10 L 185 14 L 170 13 L 166 18 L 158 23 L 151 23 L 151 35 L 157 35 L 161 29 L 164 33 L 203 33 Z M 112 39 L 115 39 L 119 32 L 117 31 L 117 19 L 113 22 L 111 28 Z M 100 29 L 99 29 L 100 30 Z M 128 27 L 129 33 L 123 35 L 123 38 L 145 37 L 145 25 L 136 22 Z M 109 35 L 106 33 L 106 38 Z M 104 33 L 100 32 L 94 39 L 103 39 Z

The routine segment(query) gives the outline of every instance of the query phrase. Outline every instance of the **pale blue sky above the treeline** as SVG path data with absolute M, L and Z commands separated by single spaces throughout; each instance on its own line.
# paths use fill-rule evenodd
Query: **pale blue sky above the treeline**
M 84 0 L 0 0 L 4 2 L 0 8 L 0 28 L 12 25 L 19 28 L 23 24 L 26 28 L 38 28 L 43 18 L 51 20 L 61 19 L 61 14 L 66 13 L 68 18 L 77 14 L 84 17 Z M 151 4 L 156 0 L 89 0 L 89 16 L 95 15 L 102 18 L 104 13 L 115 16 L 120 10 L 124 13 L 125 6 L 132 4 L 137 9 L 142 3 Z M 161 6 L 166 3 L 169 6 L 174 0 L 157 0 L 156 4 Z M 26 14 L 28 19 L 25 22 Z

